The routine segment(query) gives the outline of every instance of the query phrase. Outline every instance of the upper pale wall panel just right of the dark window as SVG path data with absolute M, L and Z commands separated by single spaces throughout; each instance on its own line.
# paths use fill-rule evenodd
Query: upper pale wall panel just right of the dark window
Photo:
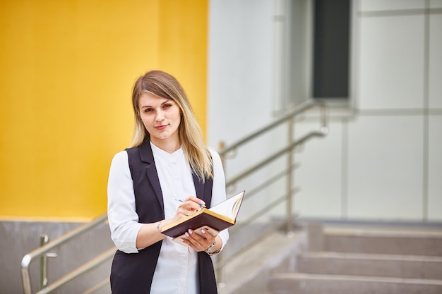
M 361 19 L 359 108 L 422 108 L 424 16 Z

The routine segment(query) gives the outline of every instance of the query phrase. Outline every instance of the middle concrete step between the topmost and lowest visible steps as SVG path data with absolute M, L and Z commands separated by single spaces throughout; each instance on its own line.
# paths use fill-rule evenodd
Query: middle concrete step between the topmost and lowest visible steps
M 306 274 L 442 279 L 442 257 L 343 252 L 302 252 L 297 271 Z

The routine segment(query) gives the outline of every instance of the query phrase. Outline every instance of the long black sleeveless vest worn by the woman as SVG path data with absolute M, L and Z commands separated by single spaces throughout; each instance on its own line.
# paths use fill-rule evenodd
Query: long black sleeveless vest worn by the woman
M 165 219 L 160 180 L 149 140 L 138 147 L 126 149 L 126 152 L 129 155 L 139 222 L 155 223 Z M 210 207 L 213 180 L 205 179 L 205 183 L 202 183 L 193 174 L 193 183 L 196 197 Z M 150 294 L 161 245 L 162 241 L 131 254 L 117 250 L 110 275 L 112 294 Z M 198 275 L 200 294 L 217 294 L 212 259 L 205 252 L 198 252 Z

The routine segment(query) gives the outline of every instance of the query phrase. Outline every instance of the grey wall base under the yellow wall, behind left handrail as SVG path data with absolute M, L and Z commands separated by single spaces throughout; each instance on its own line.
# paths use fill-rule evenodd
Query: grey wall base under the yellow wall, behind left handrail
M 20 276 L 20 264 L 23 256 L 40 246 L 40 235 L 49 235 L 49 240 L 54 240 L 60 235 L 83 223 L 59 223 L 39 221 L 1 221 L 0 222 L 0 293 L 17 294 L 23 293 Z M 110 240 L 109 226 L 107 223 L 97 226 L 94 230 L 80 235 L 76 242 L 61 245 L 54 250 L 58 257 L 48 259 L 49 283 L 56 281 L 68 272 L 76 269 L 89 259 L 99 255 L 104 250 L 113 246 Z M 83 293 L 90 287 L 108 278 L 110 273 L 110 261 L 102 264 L 78 278 L 75 285 L 67 285 L 59 293 Z M 40 281 L 40 259 L 30 264 L 30 274 L 33 293 L 37 292 Z M 101 292 L 109 293 L 109 286 L 100 289 Z

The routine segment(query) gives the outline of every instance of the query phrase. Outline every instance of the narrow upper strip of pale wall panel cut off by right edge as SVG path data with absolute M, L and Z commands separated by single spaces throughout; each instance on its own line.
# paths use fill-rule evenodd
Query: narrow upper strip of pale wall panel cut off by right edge
M 430 16 L 429 107 L 442 108 L 442 14 Z

